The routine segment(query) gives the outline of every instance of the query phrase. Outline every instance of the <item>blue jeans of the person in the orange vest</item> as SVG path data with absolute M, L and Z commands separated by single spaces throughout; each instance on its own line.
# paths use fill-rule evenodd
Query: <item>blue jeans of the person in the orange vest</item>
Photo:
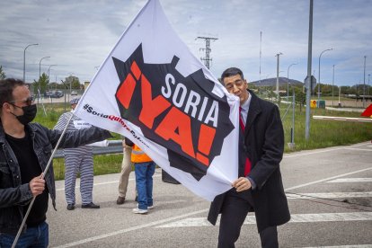
M 153 175 L 155 163 L 135 163 L 136 186 L 138 193 L 138 208 L 147 209 L 153 206 Z

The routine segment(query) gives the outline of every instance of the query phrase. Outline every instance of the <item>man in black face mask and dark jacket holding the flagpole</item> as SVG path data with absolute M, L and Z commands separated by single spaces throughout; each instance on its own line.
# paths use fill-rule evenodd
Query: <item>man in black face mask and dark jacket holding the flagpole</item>
M 41 173 L 62 132 L 30 123 L 36 111 L 26 84 L 12 78 L 0 80 L 0 247 L 13 244 L 33 197 L 35 202 L 17 245 L 49 245 L 45 220 L 49 195 L 56 206 L 53 167 L 49 167 L 44 179 Z M 108 137 L 109 131 L 86 128 L 66 132 L 59 146 L 81 146 Z

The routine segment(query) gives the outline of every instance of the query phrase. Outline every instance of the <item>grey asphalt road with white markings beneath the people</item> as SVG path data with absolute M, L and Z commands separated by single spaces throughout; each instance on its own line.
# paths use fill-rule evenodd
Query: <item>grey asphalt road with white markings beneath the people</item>
M 281 164 L 292 214 L 279 226 L 280 247 L 372 247 L 372 144 L 337 146 L 285 155 Z M 128 201 L 118 206 L 119 174 L 94 178 L 94 202 L 101 209 L 66 210 L 57 182 L 58 211 L 49 208 L 50 247 L 216 247 L 218 226 L 206 221 L 209 203 L 155 173 L 155 209 L 136 207 L 134 173 Z M 260 247 L 250 214 L 236 247 Z

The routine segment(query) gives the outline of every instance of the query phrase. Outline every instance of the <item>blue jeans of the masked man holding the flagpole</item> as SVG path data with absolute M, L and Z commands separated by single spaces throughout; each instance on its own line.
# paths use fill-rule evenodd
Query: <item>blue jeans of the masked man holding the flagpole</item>
M 0 247 L 12 247 L 16 235 L 0 234 Z M 34 247 L 45 248 L 49 245 L 49 226 L 47 222 L 39 226 L 27 227 L 26 232 L 22 233 L 18 239 L 17 248 Z

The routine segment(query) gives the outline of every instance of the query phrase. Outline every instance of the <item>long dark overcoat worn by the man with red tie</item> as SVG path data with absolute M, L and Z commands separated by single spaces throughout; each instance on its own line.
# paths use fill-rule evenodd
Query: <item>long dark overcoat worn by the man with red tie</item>
M 239 143 L 244 143 L 243 153 L 251 160 L 249 176 L 256 183 L 256 188 L 241 194 L 252 194 L 257 227 L 261 232 L 268 226 L 279 226 L 290 219 L 279 169 L 284 151 L 284 131 L 278 107 L 272 102 L 261 100 L 251 91 L 249 93 L 252 100 L 244 135 L 240 137 Z M 242 161 L 245 159 L 240 156 L 239 176 L 242 176 L 244 170 Z M 210 205 L 208 221 L 212 225 L 216 225 L 226 193 L 218 195 Z

